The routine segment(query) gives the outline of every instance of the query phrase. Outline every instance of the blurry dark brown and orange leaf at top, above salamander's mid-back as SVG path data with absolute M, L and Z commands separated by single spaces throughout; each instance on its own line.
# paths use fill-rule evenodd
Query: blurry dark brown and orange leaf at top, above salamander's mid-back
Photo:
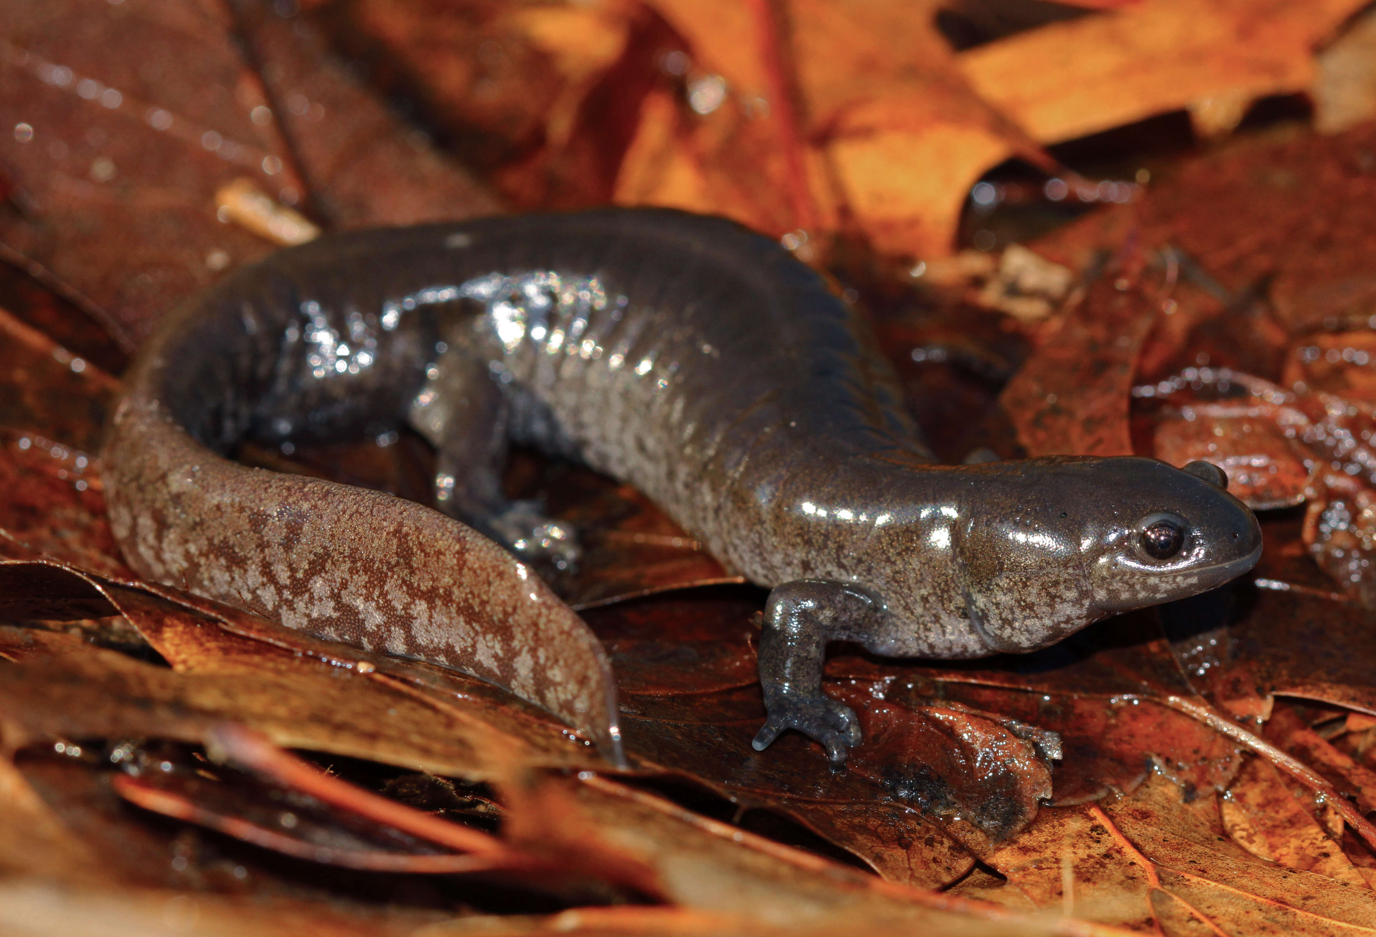
M 666 32 L 619 3 L 350 0 L 311 19 L 527 208 L 608 200 Z

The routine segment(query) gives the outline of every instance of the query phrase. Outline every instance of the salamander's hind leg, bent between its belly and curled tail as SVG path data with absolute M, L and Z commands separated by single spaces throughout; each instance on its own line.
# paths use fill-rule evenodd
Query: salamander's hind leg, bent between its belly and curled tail
M 450 345 L 409 413 L 438 451 L 435 504 L 541 572 L 568 572 L 581 554 L 572 527 L 545 516 L 539 502 L 508 501 L 502 491 L 509 411 L 486 359 Z

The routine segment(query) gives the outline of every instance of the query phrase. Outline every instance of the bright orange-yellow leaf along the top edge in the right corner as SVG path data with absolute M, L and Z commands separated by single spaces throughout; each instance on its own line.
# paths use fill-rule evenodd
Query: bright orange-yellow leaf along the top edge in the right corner
M 1361 7 L 1145 0 L 989 43 L 958 61 L 977 94 L 1044 143 L 1223 102 L 1236 125 L 1256 98 L 1307 91 L 1314 50 Z

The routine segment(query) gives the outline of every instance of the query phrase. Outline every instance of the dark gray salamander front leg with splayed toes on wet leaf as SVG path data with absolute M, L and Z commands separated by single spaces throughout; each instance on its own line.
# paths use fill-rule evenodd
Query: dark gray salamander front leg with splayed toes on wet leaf
M 827 750 L 832 768 L 846 764 L 846 748 L 860 744 L 860 722 L 849 706 L 821 692 L 827 644 L 874 634 L 886 615 L 879 597 L 848 582 L 795 579 L 769 593 L 760 637 L 768 720 L 755 751 L 784 729 L 798 729 Z

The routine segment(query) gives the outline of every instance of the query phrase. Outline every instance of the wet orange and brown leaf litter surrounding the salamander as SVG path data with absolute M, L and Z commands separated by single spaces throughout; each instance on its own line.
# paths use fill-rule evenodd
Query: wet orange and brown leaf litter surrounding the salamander
M 1359 80 L 1342 72 L 1359 56 L 1336 50 L 1369 28 L 1344 25 L 1359 4 L 1342 0 L 1276 4 L 1245 39 L 1255 11 L 1240 4 L 1086 7 L 1102 10 L 0 14 L 0 919 L 32 933 L 1376 927 L 1376 138 L 1361 95 L 1343 92 L 1355 117 L 1332 116 Z M 1342 132 L 1248 117 L 1258 98 L 1302 92 Z M 1215 142 L 1157 171 L 1165 182 L 1113 182 L 1130 150 L 1064 166 L 1072 149 L 1043 149 L 1176 109 Z M 1025 162 L 999 166 L 1010 157 Z M 1026 246 L 981 241 L 991 202 L 1064 217 L 1068 194 L 1079 212 L 1106 205 Z M 1263 510 L 1262 566 L 1022 658 L 838 649 L 827 689 L 867 737 L 843 775 L 799 736 L 749 747 L 764 593 L 577 466 L 519 454 L 506 483 L 589 545 L 553 585 L 612 659 L 630 772 L 499 687 L 124 566 L 94 453 L 111 373 L 179 299 L 316 228 L 608 201 L 727 213 L 827 266 L 952 461 L 1215 461 Z M 976 250 L 956 253 L 971 224 Z M 410 438 L 239 458 L 422 504 L 433 473 Z

